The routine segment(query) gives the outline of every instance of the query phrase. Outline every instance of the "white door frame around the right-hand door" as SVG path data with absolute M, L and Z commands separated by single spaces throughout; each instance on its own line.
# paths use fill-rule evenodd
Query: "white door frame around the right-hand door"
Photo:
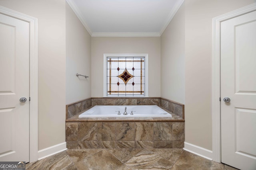
M 256 3 L 212 19 L 212 160 L 221 162 L 220 23 L 256 10 Z

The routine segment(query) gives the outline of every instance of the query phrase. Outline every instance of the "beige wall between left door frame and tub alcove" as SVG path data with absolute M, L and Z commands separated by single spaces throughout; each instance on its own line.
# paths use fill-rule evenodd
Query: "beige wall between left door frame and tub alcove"
M 0 6 L 38 19 L 38 150 L 63 143 L 65 0 L 1 0 Z

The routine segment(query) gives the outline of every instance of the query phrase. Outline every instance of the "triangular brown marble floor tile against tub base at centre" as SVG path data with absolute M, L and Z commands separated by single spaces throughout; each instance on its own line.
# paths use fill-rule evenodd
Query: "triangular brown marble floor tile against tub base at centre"
M 108 151 L 125 163 L 142 150 L 143 149 L 110 149 Z

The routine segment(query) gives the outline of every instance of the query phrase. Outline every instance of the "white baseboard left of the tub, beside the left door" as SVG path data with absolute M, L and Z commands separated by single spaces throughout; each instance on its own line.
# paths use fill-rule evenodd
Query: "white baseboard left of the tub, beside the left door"
M 57 145 L 54 145 L 52 147 L 48 147 L 48 148 L 45 148 L 42 150 L 38 150 L 38 160 L 41 160 L 48 156 L 52 156 L 52 155 L 62 152 L 64 150 L 67 150 L 66 142 L 59 143 Z

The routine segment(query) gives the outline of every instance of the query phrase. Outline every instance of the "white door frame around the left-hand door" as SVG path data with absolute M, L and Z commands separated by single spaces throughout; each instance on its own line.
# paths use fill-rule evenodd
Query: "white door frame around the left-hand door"
M 38 34 L 37 18 L 0 6 L 0 13 L 29 23 L 29 162 L 38 160 Z

